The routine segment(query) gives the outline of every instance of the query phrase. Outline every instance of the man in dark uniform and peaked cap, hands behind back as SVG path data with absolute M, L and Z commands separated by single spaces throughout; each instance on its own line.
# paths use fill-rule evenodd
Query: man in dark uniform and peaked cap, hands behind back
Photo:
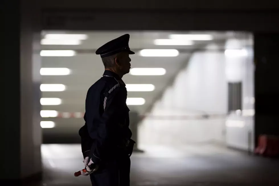
M 85 125 L 79 130 L 83 162 L 94 186 L 130 185 L 130 156 L 134 141 L 129 129 L 127 90 L 123 75 L 131 68 L 130 35 L 125 34 L 101 46 L 105 71 L 88 90 Z

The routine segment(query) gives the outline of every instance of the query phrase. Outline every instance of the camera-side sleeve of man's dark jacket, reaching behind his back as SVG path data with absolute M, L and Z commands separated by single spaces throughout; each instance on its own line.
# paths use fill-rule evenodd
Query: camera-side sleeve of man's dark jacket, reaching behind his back
M 116 135 L 116 120 L 120 116 L 120 113 L 124 109 L 124 97 L 122 96 L 119 88 L 114 90 L 113 94 L 109 94 L 105 97 L 104 113 L 100 116 L 100 124 L 97 128 L 97 143 L 90 151 L 92 161 L 94 163 L 100 163 L 104 157 L 106 151 L 113 143 L 113 137 Z

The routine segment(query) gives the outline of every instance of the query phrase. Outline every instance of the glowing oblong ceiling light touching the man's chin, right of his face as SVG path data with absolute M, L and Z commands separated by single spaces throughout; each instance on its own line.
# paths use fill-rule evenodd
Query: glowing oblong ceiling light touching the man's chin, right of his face
M 132 68 L 131 75 L 164 75 L 166 70 L 164 68 Z

